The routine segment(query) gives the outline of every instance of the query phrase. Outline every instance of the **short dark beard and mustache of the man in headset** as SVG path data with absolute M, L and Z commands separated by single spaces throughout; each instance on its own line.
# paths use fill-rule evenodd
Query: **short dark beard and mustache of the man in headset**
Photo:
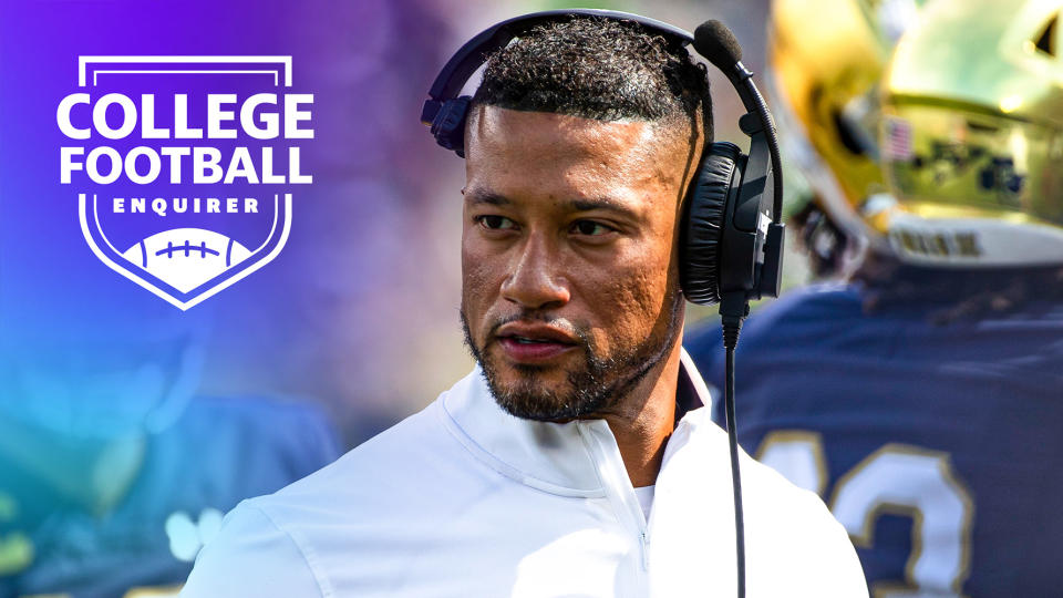
M 679 337 L 682 307 L 683 296 L 675 293 L 671 301 L 668 323 L 661 333 L 651 333 L 640 342 L 620 346 L 609 357 L 601 355 L 586 329 L 572 326 L 563 319 L 536 313 L 515 315 L 493 322 L 487 332 L 487 342 L 484 347 L 477 347 L 472 338 L 464 309 L 461 310 L 461 317 L 465 346 L 479 364 L 495 402 L 507 413 L 517 417 L 557 422 L 600 416 L 615 411 L 631 390 L 668 354 Z M 549 368 L 546 365 L 513 364 L 512 368 L 519 380 L 512 384 L 503 384 L 498 374 L 498 364 L 487 354 L 486 344 L 492 342 L 491 339 L 498 328 L 516 320 L 550 323 L 565 328 L 579 339 L 578 346 L 582 349 L 584 363 L 567 373 L 567 388 L 564 391 L 544 388 L 540 374 Z

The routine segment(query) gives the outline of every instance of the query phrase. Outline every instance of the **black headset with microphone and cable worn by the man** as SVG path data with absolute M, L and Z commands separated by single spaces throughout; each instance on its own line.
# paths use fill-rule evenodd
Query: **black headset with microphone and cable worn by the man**
M 634 22 L 651 33 L 693 45 L 731 81 L 746 113 L 739 120 L 750 153 L 729 142 L 702 152 L 680 229 L 680 285 L 688 300 L 720 303 L 726 349 L 725 412 L 734 491 L 739 597 L 745 596 L 745 539 L 742 486 L 734 427 L 734 347 L 750 301 L 778 297 L 785 227 L 783 178 L 775 125 L 753 73 L 742 64 L 734 34 L 720 21 L 705 21 L 691 34 L 668 23 L 627 12 L 594 9 L 548 10 L 502 21 L 465 43 L 443 66 L 429 90 L 421 122 L 443 147 L 464 157 L 465 122 L 472 97 L 460 95 L 492 52 L 530 28 L 572 17 Z

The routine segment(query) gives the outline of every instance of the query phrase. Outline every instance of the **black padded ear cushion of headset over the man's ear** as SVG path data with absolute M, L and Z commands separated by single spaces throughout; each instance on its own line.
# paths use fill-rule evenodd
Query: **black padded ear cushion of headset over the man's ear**
M 680 255 L 680 283 L 691 302 L 720 302 L 720 241 L 723 219 L 735 182 L 737 146 L 727 142 L 709 147 L 687 200 Z

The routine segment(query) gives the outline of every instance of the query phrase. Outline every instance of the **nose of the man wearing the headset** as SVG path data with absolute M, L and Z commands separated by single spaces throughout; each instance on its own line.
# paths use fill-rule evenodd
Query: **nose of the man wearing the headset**
M 571 298 L 561 275 L 558 248 L 546 235 L 533 234 L 517 249 L 509 276 L 502 283 L 502 296 L 526 310 L 554 309 Z

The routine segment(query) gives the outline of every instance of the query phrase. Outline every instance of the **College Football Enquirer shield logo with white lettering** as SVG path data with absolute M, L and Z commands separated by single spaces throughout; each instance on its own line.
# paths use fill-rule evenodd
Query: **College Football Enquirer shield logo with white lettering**
M 290 56 L 81 56 L 79 86 L 63 182 L 89 189 L 81 231 L 109 268 L 187 310 L 283 249 L 290 186 L 311 182 L 290 140 L 313 137 Z

